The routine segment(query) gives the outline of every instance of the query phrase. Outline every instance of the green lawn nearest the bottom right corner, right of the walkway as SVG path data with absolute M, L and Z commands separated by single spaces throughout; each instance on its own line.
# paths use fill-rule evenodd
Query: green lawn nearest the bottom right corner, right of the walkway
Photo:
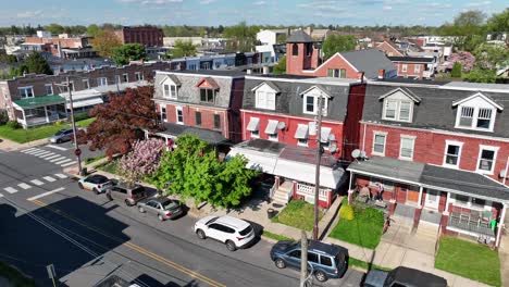
M 435 267 L 488 285 L 501 286 L 497 251 L 476 242 L 454 237 L 440 238 Z

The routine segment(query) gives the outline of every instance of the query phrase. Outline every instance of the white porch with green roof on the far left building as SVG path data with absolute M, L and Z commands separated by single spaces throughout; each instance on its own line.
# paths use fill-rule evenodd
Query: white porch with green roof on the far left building
M 15 100 L 13 107 L 16 121 L 24 128 L 67 118 L 65 99 L 58 95 Z

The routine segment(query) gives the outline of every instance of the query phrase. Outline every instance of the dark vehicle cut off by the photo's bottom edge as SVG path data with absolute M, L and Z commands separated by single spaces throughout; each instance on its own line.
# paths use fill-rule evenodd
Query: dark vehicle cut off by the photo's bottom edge
M 431 273 L 399 266 L 390 272 L 372 270 L 364 279 L 364 287 L 447 287 L 447 280 Z

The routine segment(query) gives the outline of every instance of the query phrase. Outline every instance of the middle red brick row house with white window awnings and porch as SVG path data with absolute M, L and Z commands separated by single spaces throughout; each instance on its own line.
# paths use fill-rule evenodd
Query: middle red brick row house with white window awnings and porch
M 328 207 L 346 179 L 340 163 L 358 147 L 364 90 L 365 84 L 353 79 L 247 75 L 240 110 L 245 142 L 229 155 L 244 154 L 249 167 L 275 176 L 271 196 L 276 201 L 286 203 L 291 197 L 312 201 L 320 141 L 324 151 L 320 204 Z

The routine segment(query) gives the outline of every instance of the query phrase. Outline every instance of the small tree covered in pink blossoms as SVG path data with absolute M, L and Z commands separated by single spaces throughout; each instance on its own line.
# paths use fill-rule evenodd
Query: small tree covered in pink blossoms
M 141 177 L 154 173 L 164 148 L 164 141 L 156 138 L 136 141 L 133 151 L 120 160 L 120 174 L 127 184 L 134 185 Z

